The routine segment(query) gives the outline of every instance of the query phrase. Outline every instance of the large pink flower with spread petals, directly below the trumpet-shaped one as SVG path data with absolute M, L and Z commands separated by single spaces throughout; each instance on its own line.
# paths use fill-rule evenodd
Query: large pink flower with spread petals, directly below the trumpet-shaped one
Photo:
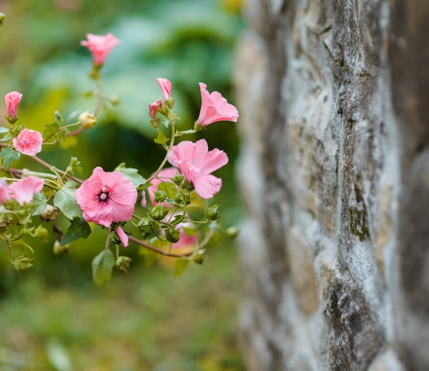
M 180 142 L 173 146 L 168 160 L 170 164 L 180 168 L 184 178 L 193 183 L 197 194 L 203 199 L 210 199 L 221 189 L 222 179 L 210 172 L 228 164 L 228 156 L 217 148 L 208 151 L 206 140 L 200 139 L 196 143 L 188 140 Z

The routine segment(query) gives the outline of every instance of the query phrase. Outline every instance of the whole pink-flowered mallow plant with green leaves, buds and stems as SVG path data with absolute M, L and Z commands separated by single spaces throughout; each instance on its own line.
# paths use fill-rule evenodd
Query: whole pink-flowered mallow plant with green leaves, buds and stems
M 88 179 L 79 179 L 82 168 L 77 157 L 71 157 L 69 166 L 61 170 L 38 154 L 45 146 L 78 136 L 96 125 L 107 100 L 101 92 L 101 68 L 120 41 L 112 34 L 86 37 L 81 44 L 93 54 L 89 76 L 96 84 L 94 112 L 82 112 L 69 125 L 64 125 L 61 114 L 55 112 L 54 122 L 47 123 L 40 133 L 19 123 L 18 106 L 23 94 L 5 94 L 8 125 L 0 127 L 0 238 L 14 268 L 26 272 L 34 261 L 26 235 L 43 241 L 49 235 L 49 228 L 40 221 L 51 224 L 56 238 L 54 253 L 69 251 L 71 244 L 88 238 L 95 225 L 99 225 L 106 231 L 106 244 L 93 259 L 93 279 L 97 285 L 110 279 L 115 267 L 127 271 L 131 258 L 121 252 L 131 243 L 139 246 L 147 261 L 154 261 L 159 255 L 174 258 L 178 275 L 190 261 L 204 261 L 206 248 L 219 233 L 219 205 L 207 200 L 222 185 L 222 180 L 212 172 L 228 163 L 228 155 L 219 149 L 209 150 L 205 139 L 179 142 L 178 138 L 215 122 L 236 122 L 238 112 L 219 92 L 209 93 L 206 84 L 199 83 L 199 117 L 193 129 L 180 131 L 175 126 L 178 117 L 173 112 L 172 84 L 168 79 L 157 79 L 162 98 L 149 104 L 149 118 L 156 131 L 155 142 L 166 152 L 161 164 L 148 179 L 125 164 L 112 171 L 97 166 Z M 160 125 L 169 130 L 168 136 Z M 46 172 L 14 167 L 22 155 L 44 166 Z M 63 231 L 60 226 L 64 218 L 69 227 Z M 227 231 L 230 235 L 236 233 L 235 229 Z

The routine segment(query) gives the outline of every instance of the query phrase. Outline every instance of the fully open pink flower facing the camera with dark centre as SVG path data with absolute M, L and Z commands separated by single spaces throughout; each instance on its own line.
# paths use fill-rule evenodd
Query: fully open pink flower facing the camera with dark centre
M 76 190 L 75 198 L 87 222 L 110 227 L 112 222 L 131 219 L 137 191 L 121 172 L 106 172 L 98 166 Z

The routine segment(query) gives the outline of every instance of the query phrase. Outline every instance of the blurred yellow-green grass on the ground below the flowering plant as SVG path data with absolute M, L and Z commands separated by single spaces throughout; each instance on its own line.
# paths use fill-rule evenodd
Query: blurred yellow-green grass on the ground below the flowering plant
M 0 301 L 0 370 L 243 370 L 231 246 L 178 278 L 138 262 L 101 288 L 24 278 Z

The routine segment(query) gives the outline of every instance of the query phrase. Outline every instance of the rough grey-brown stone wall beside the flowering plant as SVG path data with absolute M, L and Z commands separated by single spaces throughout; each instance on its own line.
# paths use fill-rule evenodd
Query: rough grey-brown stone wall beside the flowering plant
M 247 370 L 429 370 L 429 1 L 245 8 Z

